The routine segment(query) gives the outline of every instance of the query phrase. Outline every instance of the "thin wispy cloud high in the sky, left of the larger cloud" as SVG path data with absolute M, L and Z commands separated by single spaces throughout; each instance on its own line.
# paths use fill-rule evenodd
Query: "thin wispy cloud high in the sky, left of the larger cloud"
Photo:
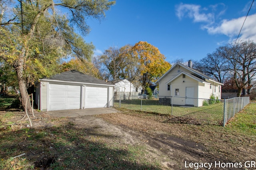
M 206 8 L 202 9 L 200 5 L 180 4 L 176 6 L 176 16 L 178 16 L 180 20 L 188 16 L 193 19 L 194 22 L 213 22 L 214 15 L 212 13 L 206 14 L 201 12 L 206 10 Z

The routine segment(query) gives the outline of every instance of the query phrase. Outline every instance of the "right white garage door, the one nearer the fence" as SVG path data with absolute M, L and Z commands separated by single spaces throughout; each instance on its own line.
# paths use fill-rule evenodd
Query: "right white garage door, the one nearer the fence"
M 107 107 L 108 88 L 107 87 L 88 87 L 85 90 L 85 108 Z

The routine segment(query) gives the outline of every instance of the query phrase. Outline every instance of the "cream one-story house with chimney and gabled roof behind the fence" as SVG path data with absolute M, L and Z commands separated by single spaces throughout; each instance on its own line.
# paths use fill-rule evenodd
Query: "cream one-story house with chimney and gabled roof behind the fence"
M 160 77 L 156 81 L 159 84 L 159 98 L 167 96 L 186 97 L 185 100 L 181 99 L 178 103 L 173 104 L 197 107 L 202 106 L 202 100 L 192 100 L 191 98 L 210 99 L 213 94 L 221 99 L 221 86 L 223 84 L 192 69 L 191 66 L 191 61 L 188 61 L 188 66 L 176 63 Z

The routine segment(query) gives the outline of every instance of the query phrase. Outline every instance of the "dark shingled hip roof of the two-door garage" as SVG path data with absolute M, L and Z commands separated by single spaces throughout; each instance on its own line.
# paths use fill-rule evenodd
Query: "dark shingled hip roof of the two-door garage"
M 65 71 L 59 74 L 56 74 L 52 77 L 45 77 L 45 81 L 64 81 L 64 82 L 78 82 L 78 83 L 89 83 L 89 84 L 100 84 L 100 85 L 112 85 L 112 83 L 106 82 L 104 80 L 97 79 L 90 75 L 83 74 L 76 70 Z

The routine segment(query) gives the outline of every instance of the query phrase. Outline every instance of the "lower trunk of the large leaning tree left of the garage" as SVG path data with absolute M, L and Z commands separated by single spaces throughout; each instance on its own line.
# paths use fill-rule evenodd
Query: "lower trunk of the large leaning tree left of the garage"
M 25 82 L 25 77 L 24 77 L 24 60 L 22 56 L 19 56 L 18 61 L 16 62 L 17 67 L 16 67 L 16 73 L 17 73 L 17 78 L 18 78 L 18 85 L 20 89 L 20 97 L 21 97 L 21 103 L 23 108 L 27 108 L 29 112 L 31 112 L 31 105 L 30 102 L 26 104 L 26 100 L 30 99 L 28 95 L 28 91 L 26 88 L 26 82 Z

